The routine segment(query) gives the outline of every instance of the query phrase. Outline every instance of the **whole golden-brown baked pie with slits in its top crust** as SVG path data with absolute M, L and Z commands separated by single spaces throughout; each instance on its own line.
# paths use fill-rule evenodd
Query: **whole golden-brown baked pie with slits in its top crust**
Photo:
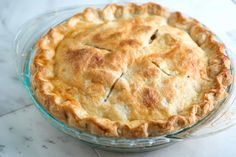
M 224 45 L 197 20 L 146 3 L 87 8 L 36 46 L 31 82 L 60 121 L 100 136 L 159 136 L 227 97 Z

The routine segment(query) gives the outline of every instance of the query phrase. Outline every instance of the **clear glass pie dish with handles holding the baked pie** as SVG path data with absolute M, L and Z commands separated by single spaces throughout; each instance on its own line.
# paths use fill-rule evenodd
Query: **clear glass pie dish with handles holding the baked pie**
M 98 8 L 103 6 L 104 5 L 96 5 L 95 7 Z M 159 149 L 190 138 L 209 136 L 211 134 L 223 131 L 236 123 L 235 79 L 230 87 L 228 87 L 228 97 L 220 102 L 205 118 L 192 126 L 163 136 L 137 139 L 102 137 L 72 128 L 53 117 L 44 108 L 44 106 L 39 103 L 31 86 L 30 65 L 35 55 L 35 44 L 38 39 L 50 28 L 58 25 L 65 19 L 77 12 L 82 11 L 86 7 L 88 6 L 61 9 L 40 15 L 25 23 L 19 30 L 15 39 L 15 51 L 17 55 L 17 70 L 19 77 L 34 105 L 51 125 L 64 133 L 91 145 L 92 147 L 121 152 L 141 152 Z M 227 55 L 231 59 L 231 70 L 235 76 L 234 66 L 236 64 L 236 57 L 229 49 L 227 49 Z

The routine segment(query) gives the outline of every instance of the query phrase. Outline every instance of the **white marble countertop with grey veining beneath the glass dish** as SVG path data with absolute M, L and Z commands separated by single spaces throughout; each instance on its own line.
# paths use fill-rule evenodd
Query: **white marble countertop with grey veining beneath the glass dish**
M 96 3 L 116 1 L 97 0 Z M 123 2 L 127 2 L 124 1 Z M 141 2 L 141 1 L 139 1 Z M 236 4 L 231 0 L 160 0 L 207 25 L 236 52 Z M 167 148 L 136 154 L 119 154 L 93 149 L 50 126 L 32 105 L 15 72 L 12 47 L 17 29 L 44 12 L 95 1 L 0 0 L 0 157 L 154 157 L 236 156 L 236 127 L 197 140 L 179 142 Z

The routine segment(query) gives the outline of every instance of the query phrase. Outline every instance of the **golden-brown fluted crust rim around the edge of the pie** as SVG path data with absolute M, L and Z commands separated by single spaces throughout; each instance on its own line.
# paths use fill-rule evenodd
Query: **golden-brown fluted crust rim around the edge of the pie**
M 171 20 L 171 26 L 175 26 L 186 31 L 199 47 L 207 44 L 208 47 L 217 53 L 220 63 L 220 72 L 216 77 L 217 88 L 206 93 L 201 104 L 193 105 L 189 110 L 190 116 L 174 115 L 167 121 L 141 121 L 134 123 L 121 123 L 111 121 L 96 116 L 84 116 L 78 114 L 80 109 L 75 107 L 73 100 L 62 101 L 58 93 L 53 93 L 53 85 L 47 77 L 50 73 L 50 65 L 55 48 L 67 33 L 73 30 L 81 21 L 91 21 L 91 17 L 100 18 L 100 20 L 109 20 L 109 14 L 117 16 L 117 11 L 123 10 L 123 14 L 132 15 L 135 12 L 139 14 L 159 15 L 165 17 L 167 21 Z M 99 16 L 98 16 L 99 15 Z M 122 16 L 122 15 L 119 15 Z M 37 44 L 37 54 L 32 63 L 32 85 L 39 102 L 59 120 L 88 131 L 92 134 L 110 136 L 110 137 L 127 137 L 140 138 L 149 136 L 158 136 L 167 134 L 178 129 L 196 123 L 205 117 L 215 107 L 215 102 L 222 100 L 227 95 L 226 88 L 232 81 L 230 71 L 230 60 L 225 55 L 225 47 L 216 40 L 214 34 L 200 24 L 197 20 L 185 17 L 180 12 L 169 12 L 166 8 L 155 4 L 147 3 L 143 5 L 126 4 L 117 5 L 109 4 L 103 10 L 87 8 L 82 13 L 76 14 L 66 22 L 52 28 L 43 36 Z M 137 125 L 138 124 L 138 125 Z

